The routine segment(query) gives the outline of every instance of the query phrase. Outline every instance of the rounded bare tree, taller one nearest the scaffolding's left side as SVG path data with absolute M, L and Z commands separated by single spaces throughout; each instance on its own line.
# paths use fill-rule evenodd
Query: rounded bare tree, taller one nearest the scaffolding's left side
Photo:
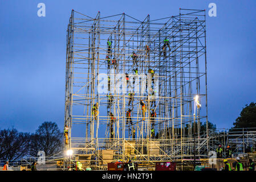
M 55 122 L 43 122 L 35 134 L 31 135 L 30 155 L 37 156 L 38 151 L 52 155 L 62 150 L 63 133 Z

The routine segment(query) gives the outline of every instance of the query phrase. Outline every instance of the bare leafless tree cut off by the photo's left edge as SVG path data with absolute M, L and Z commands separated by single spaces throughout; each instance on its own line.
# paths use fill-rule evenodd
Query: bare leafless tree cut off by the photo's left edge
M 15 160 L 27 155 L 31 143 L 29 133 L 18 132 L 16 129 L 0 131 L 0 159 Z

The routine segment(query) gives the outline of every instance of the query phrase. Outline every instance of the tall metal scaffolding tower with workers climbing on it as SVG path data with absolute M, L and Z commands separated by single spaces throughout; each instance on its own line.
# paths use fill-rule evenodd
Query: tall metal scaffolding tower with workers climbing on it
M 72 10 L 66 51 L 65 150 L 95 169 L 207 156 L 205 10 L 154 20 Z

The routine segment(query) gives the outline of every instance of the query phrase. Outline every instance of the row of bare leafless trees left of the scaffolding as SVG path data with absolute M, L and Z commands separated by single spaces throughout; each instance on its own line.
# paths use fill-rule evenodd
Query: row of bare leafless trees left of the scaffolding
M 43 122 L 35 133 L 17 129 L 0 130 L 0 159 L 17 160 L 24 156 L 37 156 L 38 151 L 52 155 L 62 151 L 63 133 L 55 122 Z

